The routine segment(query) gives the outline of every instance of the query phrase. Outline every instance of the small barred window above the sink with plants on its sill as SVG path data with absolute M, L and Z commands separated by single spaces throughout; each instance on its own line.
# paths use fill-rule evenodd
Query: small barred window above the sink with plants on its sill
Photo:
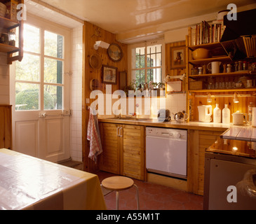
M 142 46 L 143 45 L 143 46 Z M 131 73 L 137 87 L 163 79 L 163 44 L 159 41 L 131 46 Z

